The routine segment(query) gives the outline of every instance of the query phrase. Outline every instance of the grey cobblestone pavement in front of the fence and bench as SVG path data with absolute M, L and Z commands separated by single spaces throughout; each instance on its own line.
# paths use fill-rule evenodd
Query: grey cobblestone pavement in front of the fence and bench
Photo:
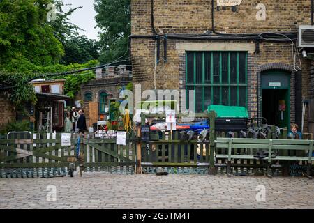
M 48 185 L 57 188 L 47 201 Z M 266 201 L 256 201 L 257 186 Z M 1 178 L 0 208 L 314 208 L 314 180 L 264 176 L 121 175 Z

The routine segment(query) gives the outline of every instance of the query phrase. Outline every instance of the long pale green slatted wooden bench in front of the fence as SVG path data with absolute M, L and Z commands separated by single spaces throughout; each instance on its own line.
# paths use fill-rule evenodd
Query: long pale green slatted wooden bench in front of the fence
M 230 174 L 230 166 L 232 159 L 239 160 L 264 160 L 267 162 L 267 176 L 271 167 L 281 167 L 281 165 L 272 165 L 273 160 L 285 161 L 306 161 L 308 162 L 307 176 L 311 178 L 310 171 L 312 165 L 313 140 L 289 140 L 289 139 L 236 139 L 236 138 L 217 138 L 216 148 L 227 149 L 227 154 L 216 153 L 216 158 L 227 160 L 227 174 Z M 233 153 L 232 153 L 232 149 Z M 237 153 L 237 149 L 242 149 L 244 153 Z M 289 151 L 304 151 L 304 153 L 296 153 L 297 155 L 288 155 Z M 259 159 L 255 157 L 257 151 L 268 151 L 267 157 Z M 276 156 L 274 157 L 274 154 Z M 306 154 L 306 156 L 302 155 Z

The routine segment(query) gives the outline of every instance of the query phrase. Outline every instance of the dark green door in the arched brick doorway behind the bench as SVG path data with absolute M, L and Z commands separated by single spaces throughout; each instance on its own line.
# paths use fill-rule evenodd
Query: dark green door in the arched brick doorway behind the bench
M 269 125 L 290 128 L 290 73 L 262 72 L 262 116 Z

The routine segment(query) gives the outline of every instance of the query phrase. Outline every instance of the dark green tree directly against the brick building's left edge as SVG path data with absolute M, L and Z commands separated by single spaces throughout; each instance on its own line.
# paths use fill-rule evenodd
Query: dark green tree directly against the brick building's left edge
M 100 63 L 109 63 L 124 56 L 130 35 L 130 0 L 95 0 L 100 34 Z

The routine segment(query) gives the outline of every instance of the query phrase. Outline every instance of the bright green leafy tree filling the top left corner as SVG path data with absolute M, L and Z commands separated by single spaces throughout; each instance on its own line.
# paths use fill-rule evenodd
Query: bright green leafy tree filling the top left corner
M 59 62 L 63 46 L 47 23 L 47 4 L 52 0 L 0 1 L 0 68 L 19 61 L 33 66 Z

